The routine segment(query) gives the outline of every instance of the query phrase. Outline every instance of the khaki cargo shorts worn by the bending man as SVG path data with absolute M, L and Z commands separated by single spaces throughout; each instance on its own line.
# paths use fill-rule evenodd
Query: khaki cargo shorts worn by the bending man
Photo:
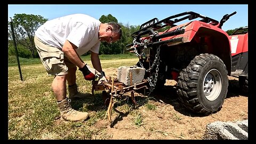
M 39 57 L 49 75 L 67 75 L 68 67 L 76 67 L 57 47 L 44 43 L 37 36 L 34 41 Z

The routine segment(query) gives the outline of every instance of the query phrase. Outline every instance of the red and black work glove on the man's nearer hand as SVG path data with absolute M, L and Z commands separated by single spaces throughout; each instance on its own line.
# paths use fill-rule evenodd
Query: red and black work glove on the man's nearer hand
M 90 66 L 87 65 L 87 63 L 84 65 L 83 68 L 79 68 L 80 71 L 82 71 L 84 75 L 84 79 L 88 81 L 92 81 L 101 75 L 99 71 L 97 71 L 94 68 L 90 68 Z

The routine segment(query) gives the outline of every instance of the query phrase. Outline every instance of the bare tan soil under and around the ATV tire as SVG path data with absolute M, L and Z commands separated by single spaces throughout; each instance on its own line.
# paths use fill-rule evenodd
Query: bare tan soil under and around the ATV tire
M 103 69 L 107 76 L 117 77 L 117 69 Z M 130 113 L 125 113 L 121 107 L 114 107 L 111 125 L 108 119 L 98 121 L 95 129 L 106 128 L 102 135 L 109 135 L 102 138 L 101 134 L 95 135 L 95 139 L 154 139 L 154 140 L 201 140 L 204 139 L 206 125 L 212 122 L 236 122 L 248 119 L 248 94 L 239 91 L 238 78 L 229 77 L 228 94 L 222 108 L 217 113 L 209 116 L 202 116 L 191 113 L 181 105 L 175 89 L 175 81 L 166 80 L 163 91 L 150 93 L 151 105 L 156 106 L 149 110 L 147 106 L 139 106 Z M 135 96 L 141 96 L 135 93 Z M 121 115 L 117 115 L 118 112 Z M 121 112 L 120 112 L 121 111 Z M 142 114 L 143 122 L 140 126 L 134 124 L 134 114 L 139 111 Z

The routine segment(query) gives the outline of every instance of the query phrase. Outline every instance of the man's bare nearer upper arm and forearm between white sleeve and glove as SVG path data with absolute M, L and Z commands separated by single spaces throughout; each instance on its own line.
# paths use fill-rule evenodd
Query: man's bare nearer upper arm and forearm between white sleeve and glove
M 78 68 L 83 68 L 85 66 L 85 63 L 77 54 L 76 49 L 77 46 L 73 43 L 70 43 L 68 40 L 66 40 L 62 47 L 62 51 L 65 53 L 65 57 L 67 57 Z

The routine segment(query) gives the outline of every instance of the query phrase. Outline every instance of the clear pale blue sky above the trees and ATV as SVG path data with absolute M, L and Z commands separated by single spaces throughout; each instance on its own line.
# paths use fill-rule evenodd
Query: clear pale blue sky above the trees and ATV
M 162 20 L 186 11 L 194 11 L 218 21 L 223 15 L 236 11 L 223 24 L 222 29 L 226 31 L 248 26 L 247 4 L 9 4 L 8 21 L 14 14 L 21 13 L 41 15 L 49 20 L 68 14 L 84 13 L 95 19 L 111 14 L 123 25 L 141 25 L 153 18 Z

